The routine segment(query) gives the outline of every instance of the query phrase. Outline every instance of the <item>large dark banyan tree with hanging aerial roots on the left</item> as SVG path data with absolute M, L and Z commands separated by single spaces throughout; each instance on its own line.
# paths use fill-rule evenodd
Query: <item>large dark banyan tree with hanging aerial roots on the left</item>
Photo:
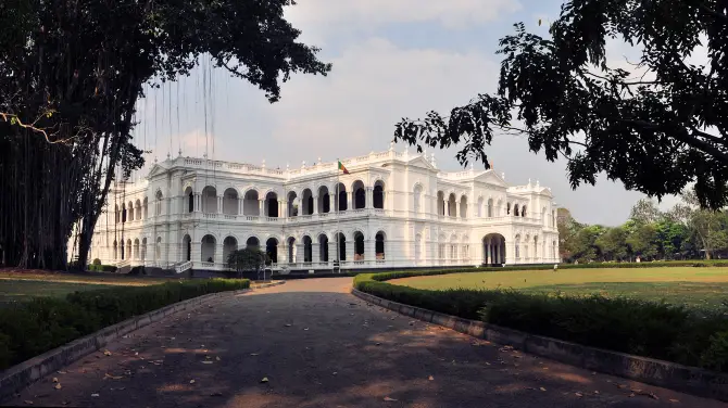
M 292 0 L 0 2 L 2 263 L 87 263 L 114 180 L 143 164 L 131 139 L 143 89 L 189 75 L 201 56 L 271 102 L 292 73 L 330 65 L 284 17 Z

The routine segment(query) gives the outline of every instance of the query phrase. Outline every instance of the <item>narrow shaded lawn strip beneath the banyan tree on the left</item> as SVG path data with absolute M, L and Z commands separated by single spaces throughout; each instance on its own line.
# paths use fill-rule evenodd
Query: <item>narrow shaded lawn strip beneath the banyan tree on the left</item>
M 73 275 L 46 271 L 0 270 L 0 307 L 30 297 L 63 297 L 76 291 L 113 286 L 146 286 L 168 282 L 167 278 L 128 277 L 124 275 Z

